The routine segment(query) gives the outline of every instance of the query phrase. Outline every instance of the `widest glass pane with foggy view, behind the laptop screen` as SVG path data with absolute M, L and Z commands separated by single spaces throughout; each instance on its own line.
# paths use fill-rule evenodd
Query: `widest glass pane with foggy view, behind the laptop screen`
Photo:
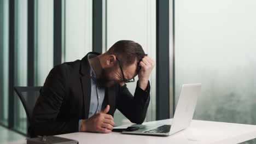
M 175 1 L 176 101 L 202 83 L 194 119 L 256 124 L 256 1 Z

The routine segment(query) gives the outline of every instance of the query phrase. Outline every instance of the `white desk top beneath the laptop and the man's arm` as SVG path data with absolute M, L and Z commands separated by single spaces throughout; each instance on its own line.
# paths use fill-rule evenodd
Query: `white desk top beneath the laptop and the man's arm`
M 148 122 L 171 124 L 172 119 Z M 147 123 L 144 123 L 147 124 Z M 110 134 L 71 133 L 58 135 L 79 143 L 240 143 L 256 138 L 256 125 L 222 123 L 193 120 L 189 128 L 171 136 L 126 135 L 116 132 Z M 6 144 L 25 144 L 26 140 Z

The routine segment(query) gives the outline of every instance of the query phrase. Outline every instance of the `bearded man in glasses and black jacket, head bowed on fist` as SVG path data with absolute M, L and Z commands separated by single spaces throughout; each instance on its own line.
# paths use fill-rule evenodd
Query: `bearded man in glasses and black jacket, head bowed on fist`
M 154 62 L 141 45 L 120 40 L 99 54 L 54 67 L 34 107 L 31 137 L 77 131 L 110 133 L 118 109 L 131 122 L 143 123 L 149 105 L 149 75 Z M 133 95 L 125 83 L 138 75 Z

